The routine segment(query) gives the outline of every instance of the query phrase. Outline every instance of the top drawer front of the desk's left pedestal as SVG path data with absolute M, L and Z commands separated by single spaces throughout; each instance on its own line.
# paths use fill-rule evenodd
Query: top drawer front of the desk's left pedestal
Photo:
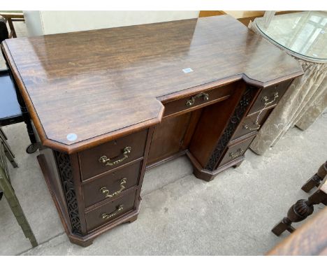
M 143 157 L 146 140 L 147 129 L 78 153 L 82 180 Z

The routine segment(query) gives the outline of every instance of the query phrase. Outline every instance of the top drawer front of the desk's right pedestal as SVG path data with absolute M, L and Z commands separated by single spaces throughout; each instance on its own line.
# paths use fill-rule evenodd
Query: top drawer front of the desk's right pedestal
M 289 85 L 291 85 L 291 80 L 262 89 L 248 114 L 256 113 L 265 107 L 269 108 L 275 106 L 282 98 Z

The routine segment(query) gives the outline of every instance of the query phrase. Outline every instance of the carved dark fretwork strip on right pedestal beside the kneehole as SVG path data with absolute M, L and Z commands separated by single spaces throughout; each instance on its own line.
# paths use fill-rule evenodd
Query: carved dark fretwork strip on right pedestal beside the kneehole
M 207 169 L 208 171 L 213 171 L 215 169 L 215 166 L 217 165 L 219 159 L 221 158 L 221 154 L 224 152 L 224 149 L 228 145 L 229 140 L 231 140 L 233 133 L 238 127 L 240 121 L 242 120 L 242 117 L 247 111 L 247 108 L 249 104 L 252 102 L 255 94 L 256 94 L 256 88 L 247 87 L 247 89 L 245 89 L 245 92 L 242 95 L 242 98 L 240 99 L 238 106 L 235 108 L 233 116 L 231 116 L 227 124 L 227 127 L 224 130 L 224 133 L 219 139 L 218 144 L 215 147 L 215 150 L 208 161 L 208 164 L 205 166 L 205 169 Z

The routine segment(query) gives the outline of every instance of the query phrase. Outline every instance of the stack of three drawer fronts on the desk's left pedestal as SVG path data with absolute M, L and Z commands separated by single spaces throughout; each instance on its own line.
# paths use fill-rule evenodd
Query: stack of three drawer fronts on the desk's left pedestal
M 148 130 L 78 153 L 87 231 L 136 208 Z

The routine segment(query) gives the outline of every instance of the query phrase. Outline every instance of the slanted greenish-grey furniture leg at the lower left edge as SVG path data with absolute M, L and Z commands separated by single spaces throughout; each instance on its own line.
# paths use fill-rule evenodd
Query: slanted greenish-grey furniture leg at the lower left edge
M 6 156 L 4 153 L 3 143 L 0 140 L 0 200 L 4 195 L 8 201 L 8 204 L 15 215 L 18 224 L 22 227 L 22 231 L 26 238 L 29 238 L 31 241 L 31 245 L 36 247 L 38 243 L 36 242 L 36 238 L 34 236 L 33 231 L 31 231 L 31 226 L 29 226 L 29 222 L 24 215 L 20 202 L 17 199 L 15 191 L 10 183 L 10 177 L 8 172 L 8 166 L 6 164 Z

